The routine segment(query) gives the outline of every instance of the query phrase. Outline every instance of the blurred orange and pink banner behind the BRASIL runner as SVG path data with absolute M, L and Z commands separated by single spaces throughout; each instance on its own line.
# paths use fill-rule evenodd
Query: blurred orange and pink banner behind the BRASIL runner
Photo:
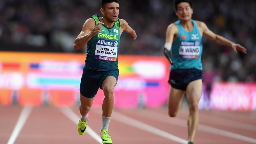
M 0 103 L 79 104 L 85 54 L 0 52 Z M 118 56 L 115 107 L 158 107 L 167 102 L 169 62 L 164 57 Z M 94 107 L 101 107 L 99 89 Z

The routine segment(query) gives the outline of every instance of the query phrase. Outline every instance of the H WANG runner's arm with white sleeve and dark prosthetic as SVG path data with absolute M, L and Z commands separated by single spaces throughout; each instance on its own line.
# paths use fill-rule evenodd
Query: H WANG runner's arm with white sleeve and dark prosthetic
M 165 44 L 164 44 L 164 55 L 169 60 L 169 62 L 171 64 L 173 64 L 171 48 L 172 48 L 173 38 L 176 33 L 178 34 L 177 26 L 173 23 L 170 24 L 166 30 L 166 38 L 165 38 Z

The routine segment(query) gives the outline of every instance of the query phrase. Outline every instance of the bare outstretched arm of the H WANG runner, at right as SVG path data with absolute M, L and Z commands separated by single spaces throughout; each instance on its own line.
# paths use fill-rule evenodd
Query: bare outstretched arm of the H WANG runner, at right
M 223 36 L 217 35 L 213 33 L 204 22 L 200 22 L 201 27 L 203 28 L 203 35 L 206 36 L 208 39 L 213 41 L 216 44 L 226 45 L 232 47 L 232 49 L 237 53 L 237 51 L 241 51 L 244 54 L 247 53 L 247 50 L 241 46 L 240 44 L 236 44 L 234 42 L 229 41 Z

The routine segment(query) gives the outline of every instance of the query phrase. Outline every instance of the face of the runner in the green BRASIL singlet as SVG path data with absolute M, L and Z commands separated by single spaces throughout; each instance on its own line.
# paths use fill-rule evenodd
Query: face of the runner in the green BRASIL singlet
M 119 15 L 119 4 L 116 2 L 108 3 L 104 9 L 100 9 L 103 17 L 111 22 L 115 22 Z

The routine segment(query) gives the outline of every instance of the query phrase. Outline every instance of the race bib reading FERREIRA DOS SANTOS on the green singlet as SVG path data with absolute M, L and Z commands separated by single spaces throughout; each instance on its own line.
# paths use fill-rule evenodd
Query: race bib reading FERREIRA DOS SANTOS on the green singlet
M 95 49 L 95 59 L 116 61 L 118 41 L 98 39 Z

